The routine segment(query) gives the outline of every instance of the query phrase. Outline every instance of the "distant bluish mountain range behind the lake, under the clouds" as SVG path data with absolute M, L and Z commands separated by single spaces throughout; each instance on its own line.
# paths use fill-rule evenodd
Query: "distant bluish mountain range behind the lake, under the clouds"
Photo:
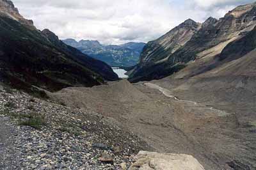
M 108 63 L 110 66 L 134 66 L 138 64 L 145 43 L 129 42 L 123 45 L 102 45 L 98 41 L 74 39 L 62 40 L 84 54 Z

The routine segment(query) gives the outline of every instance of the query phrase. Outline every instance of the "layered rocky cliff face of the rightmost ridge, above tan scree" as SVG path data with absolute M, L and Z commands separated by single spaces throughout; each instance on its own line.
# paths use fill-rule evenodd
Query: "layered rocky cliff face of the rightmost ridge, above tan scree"
M 169 58 L 170 64 L 173 65 L 178 62 L 187 63 L 196 59 L 196 54 L 199 52 L 251 31 L 256 26 L 255 5 L 253 3 L 238 6 L 218 21 L 211 18 L 207 19 L 202 24 L 202 28 L 184 45 L 184 48 Z

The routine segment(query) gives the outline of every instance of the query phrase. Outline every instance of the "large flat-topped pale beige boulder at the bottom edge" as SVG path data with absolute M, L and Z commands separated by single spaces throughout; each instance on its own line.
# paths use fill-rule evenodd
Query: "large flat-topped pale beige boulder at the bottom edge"
M 191 155 L 140 151 L 129 170 L 204 170 Z

